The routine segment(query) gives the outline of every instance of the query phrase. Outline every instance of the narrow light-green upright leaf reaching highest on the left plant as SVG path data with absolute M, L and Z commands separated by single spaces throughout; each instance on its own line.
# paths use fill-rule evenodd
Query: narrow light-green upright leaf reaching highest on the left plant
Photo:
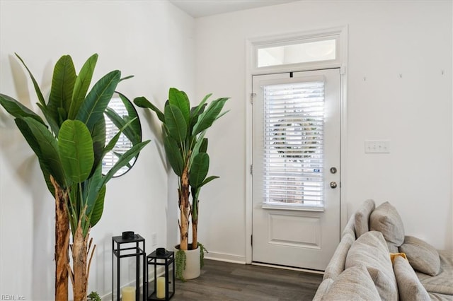
M 71 107 L 69 107 L 68 119 L 75 119 L 81 104 L 85 100 L 88 88 L 90 88 L 91 79 L 93 78 L 96 62 L 98 61 L 98 54 L 93 54 L 89 57 L 84 66 L 80 69 L 79 76 L 74 83 L 74 91 L 72 93 Z

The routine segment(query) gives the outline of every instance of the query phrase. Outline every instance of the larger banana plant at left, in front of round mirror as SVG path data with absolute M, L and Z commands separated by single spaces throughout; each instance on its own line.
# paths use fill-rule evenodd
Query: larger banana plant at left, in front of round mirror
M 124 78 L 120 71 L 111 71 L 89 90 L 98 54 L 88 58 L 79 75 L 71 57 L 61 57 L 55 64 L 47 101 L 33 74 L 21 57 L 16 56 L 30 75 L 38 107 L 47 122 L 8 95 L 0 94 L 0 105 L 15 118 L 18 129 L 38 157 L 47 188 L 55 197 L 55 300 L 68 300 L 69 278 L 74 300 L 86 300 L 96 249 L 89 233 L 101 219 L 106 184 L 117 170 L 137 158 L 149 141 L 141 141 L 138 116 L 122 117 L 122 122 L 117 119 L 120 129 L 106 141 L 104 113 Z M 133 107 L 125 95 L 120 94 L 120 98 L 126 107 Z M 115 117 L 112 112 L 108 114 Z M 130 138 L 133 146 L 119 154 L 115 165 L 103 175 L 103 156 L 114 148 L 122 133 Z M 69 260 L 69 247 L 72 260 Z

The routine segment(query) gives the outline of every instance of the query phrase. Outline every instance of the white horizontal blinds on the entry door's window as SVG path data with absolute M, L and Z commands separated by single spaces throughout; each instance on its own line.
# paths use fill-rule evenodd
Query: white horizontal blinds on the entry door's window
M 324 82 L 264 87 L 265 203 L 323 206 Z

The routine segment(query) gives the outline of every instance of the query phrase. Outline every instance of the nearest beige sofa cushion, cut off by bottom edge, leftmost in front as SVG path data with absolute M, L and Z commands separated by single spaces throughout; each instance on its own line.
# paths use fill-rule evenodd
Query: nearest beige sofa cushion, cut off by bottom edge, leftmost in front
M 326 301 L 380 300 L 367 268 L 359 264 L 345 269 L 322 297 Z

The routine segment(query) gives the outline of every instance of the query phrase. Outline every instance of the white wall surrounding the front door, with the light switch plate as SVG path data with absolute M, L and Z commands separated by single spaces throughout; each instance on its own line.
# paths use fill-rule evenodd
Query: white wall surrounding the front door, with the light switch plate
M 452 2 L 296 1 L 196 19 L 198 98 L 231 97 L 209 132 L 211 172 L 221 178 L 200 196 L 209 256 L 246 256 L 246 39 L 343 25 L 348 217 L 365 199 L 390 201 L 407 235 L 453 249 Z M 391 153 L 365 154 L 364 141 L 376 139 L 390 140 Z

